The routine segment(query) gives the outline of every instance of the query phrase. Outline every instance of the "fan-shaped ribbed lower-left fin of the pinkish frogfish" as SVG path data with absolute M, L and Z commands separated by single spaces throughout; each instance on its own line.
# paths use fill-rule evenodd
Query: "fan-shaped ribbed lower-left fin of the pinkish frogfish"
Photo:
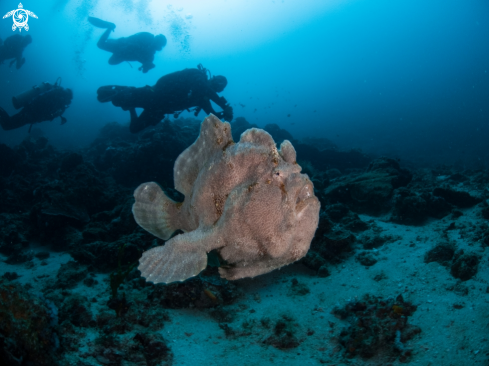
M 195 230 L 144 252 L 138 266 L 141 276 L 153 283 L 185 281 L 197 276 L 207 266 L 205 242 L 208 240 L 208 235 Z

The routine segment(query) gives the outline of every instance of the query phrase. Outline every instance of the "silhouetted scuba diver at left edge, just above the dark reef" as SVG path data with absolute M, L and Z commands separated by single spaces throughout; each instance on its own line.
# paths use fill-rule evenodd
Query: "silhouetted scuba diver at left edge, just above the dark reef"
M 52 121 L 61 118 L 61 124 L 67 121 L 62 116 L 73 99 L 71 89 L 61 87 L 61 78 L 53 84 L 42 83 L 12 98 L 15 109 L 23 108 L 19 113 L 9 116 L 0 107 L 0 125 L 4 130 L 13 130 L 30 124 L 29 132 L 34 123 Z

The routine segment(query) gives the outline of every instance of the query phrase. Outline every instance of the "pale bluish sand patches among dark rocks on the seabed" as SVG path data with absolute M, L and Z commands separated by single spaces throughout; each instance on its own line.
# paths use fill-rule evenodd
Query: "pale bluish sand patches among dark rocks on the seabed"
M 464 216 L 455 220 L 457 227 L 480 223 L 476 216 L 477 208 L 463 210 Z M 229 326 L 242 330 L 242 323 L 269 317 L 277 319 L 289 314 L 299 325 L 298 334 L 303 342 L 290 350 L 278 350 L 262 343 L 267 332 L 255 326 L 251 335 L 226 338 L 224 331 L 207 310 L 177 309 L 168 311 L 171 321 L 166 323 L 162 334 L 174 354 L 175 365 L 383 365 L 382 358 L 363 360 L 360 357 L 344 359 L 338 352 L 334 337 L 346 321 L 335 318 L 330 312 L 333 307 L 343 306 L 354 297 L 369 293 L 387 298 L 402 294 L 405 300 L 418 305 L 418 310 L 409 318 L 409 323 L 417 325 L 422 332 L 405 346 L 414 350 L 411 364 L 414 365 L 487 365 L 489 347 L 489 285 L 488 255 L 480 243 L 473 244 L 460 237 L 460 230 L 448 231 L 449 238 L 458 248 L 469 249 L 482 255 L 478 274 L 465 285 L 469 288 L 467 296 L 457 295 L 447 290 L 449 284 L 456 283 L 449 269 L 438 263 L 426 264 L 424 255 L 441 239 L 443 229 L 451 220 L 434 220 L 421 227 L 403 226 L 384 222 L 382 218 L 362 215 L 364 221 L 373 220 L 380 228 L 381 235 L 402 237 L 393 243 L 385 244 L 377 251 L 379 261 L 369 269 L 358 263 L 354 256 L 342 265 L 330 267 L 331 276 L 318 278 L 300 264 L 259 276 L 255 279 L 238 281 L 243 296 L 229 307 L 236 309 L 236 318 Z M 414 246 L 412 244 L 414 243 Z M 45 250 L 46 248 L 34 248 Z M 3 257 L 4 259 L 4 257 Z M 55 279 L 62 263 L 71 257 L 64 253 L 53 253 L 40 265 L 27 269 L 25 265 L 2 263 L 0 275 L 17 272 L 20 283 L 31 283 L 35 290 L 41 288 L 47 278 Z M 387 279 L 376 282 L 373 277 L 383 271 Z M 40 277 L 45 276 L 45 277 Z M 291 296 L 292 278 L 305 284 L 310 293 L 304 296 Z M 107 310 L 105 303 L 110 295 L 108 275 L 97 275 L 99 284 L 87 288 L 82 283 L 72 293 L 79 293 L 89 299 L 98 296 L 98 302 L 91 305 L 91 311 Z M 125 290 L 133 291 L 133 290 Z M 454 304 L 462 306 L 454 308 Z M 254 311 L 254 312 L 253 312 Z M 333 325 L 333 328 L 331 325 Z M 306 335 L 307 330 L 314 334 Z M 90 349 L 96 334 L 85 330 L 81 352 Z M 76 358 L 71 355 L 70 358 Z M 93 365 L 96 360 L 85 359 Z M 393 365 L 400 364 L 395 361 Z

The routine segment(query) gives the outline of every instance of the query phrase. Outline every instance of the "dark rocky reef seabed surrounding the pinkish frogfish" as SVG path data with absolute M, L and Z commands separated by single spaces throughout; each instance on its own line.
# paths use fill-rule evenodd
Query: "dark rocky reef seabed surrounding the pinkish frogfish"
M 424 334 L 423 324 L 407 322 L 420 301 L 415 292 L 405 290 L 399 297 L 396 285 L 387 295 L 372 289 L 364 296 L 359 284 L 344 280 L 341 286 L 357 298 L 326 309 L 321 304 L 334 294 L 317 293 L 315 286 L 333 286 L 327 281 L 345 266 L 366 271 L 365 281 L 371 273 L 383 286 L 389 253 L 402 247 L 406 253 L 417 251 L 416 266 L 441 268 L 449 282 L 442 290 L 460 297 L 452 309 L 465 309 L 460 299 L 479 291 L 474 281 L 485 270 L 489 246 L 487 171 L 406 169 L 396 159 L 341 151 L 327 140 L 296 140 L 273 124 L 264 129 L 278 145 L 284 139 L 293 143 L 321 211 L 307 255 L 259 283 L 276 286 L 275 296 L 291 304 L 309 299 L 310 309 L 263 310 L 277 305 L 273 293 L 265 298 L 258 287 L 250 292 L 253 281 L 220 278 L 218 266 L 225 263 L 213 252 L 207 268 L 192 279 L 146 282 L 137 263 L 164 240 L 134 221 L 134 189 L 155 181 L 168 197 L 182 201 L 173 188 L 173 166 L 197 139 L 200 124 L 166 120 L 132 135 L 127 126 L 109 123 L 89 147 L 76 152 L 59 151 L 34 136 L 15 147 L 0 145 L 0 255 L 5 262 L 0 358 L 8 360 L 7 366 L 31 358 L 39 365 L 170 365 L 177 344 L 162 329 L 178 329 L 182 309 L 198 311 L 215 324 L 212 344 L 250 342 L 296 353 L 310 344 L 311 354 L 325 364 L 382 352 L 385 362 L 409 362 L 417 357 L 411 343 Z M 237 141 L 253 125 L 237 118 L 231 127 Z M 412 234 L 424 225 L 436 228 L 430 235 Z M 409 276 L 420 277 L 417 270 Z M 341 330 L 334 326 L 335 316 Z M 376 329 L 382 329 L 382 337 Z M 184 339 L 196 337 L 189 329 L 180 333 Z M 326 339 L 334 349 L 327 357 Z

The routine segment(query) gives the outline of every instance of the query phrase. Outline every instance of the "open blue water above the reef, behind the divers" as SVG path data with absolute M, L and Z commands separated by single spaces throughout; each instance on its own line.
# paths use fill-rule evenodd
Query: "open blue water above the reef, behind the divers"
M 17 8 L 2 1 L 0 13 Z M 326 137 L 416 162 L 489 164 L 489 2 L 485 0 L 44 0 L 23 2 L 33 43 L 20 70 L 0 65 L 0 106 L 42 81 L 74 91 L 59 120 L 35 127 L 58 148 L 87 146 L 107 122 L 129 114 L 96 100 L 99 86 L 144 86 L 202 63 L 225 75 L 235 117 L 276 123 L 296 138 Z M 168 45 L 147 74 L 110 66 L 96 47 L 112 37 L 162 33 Z M 0 21 L 0 37 L 14 34 Z M 18 32 L 18 31 L 17 31 Z M 26 34 L 23 30 L 22 34 Z M 243 105 L 243 106 L 242 106 Z M 289 116 L 290 115 L 290 116 Z M 185 116 L 185 114 L 183 115 Z M 204 118 L 203 112 L 199 116 Z M 0 131 L 18 144 L 28 126 Z

